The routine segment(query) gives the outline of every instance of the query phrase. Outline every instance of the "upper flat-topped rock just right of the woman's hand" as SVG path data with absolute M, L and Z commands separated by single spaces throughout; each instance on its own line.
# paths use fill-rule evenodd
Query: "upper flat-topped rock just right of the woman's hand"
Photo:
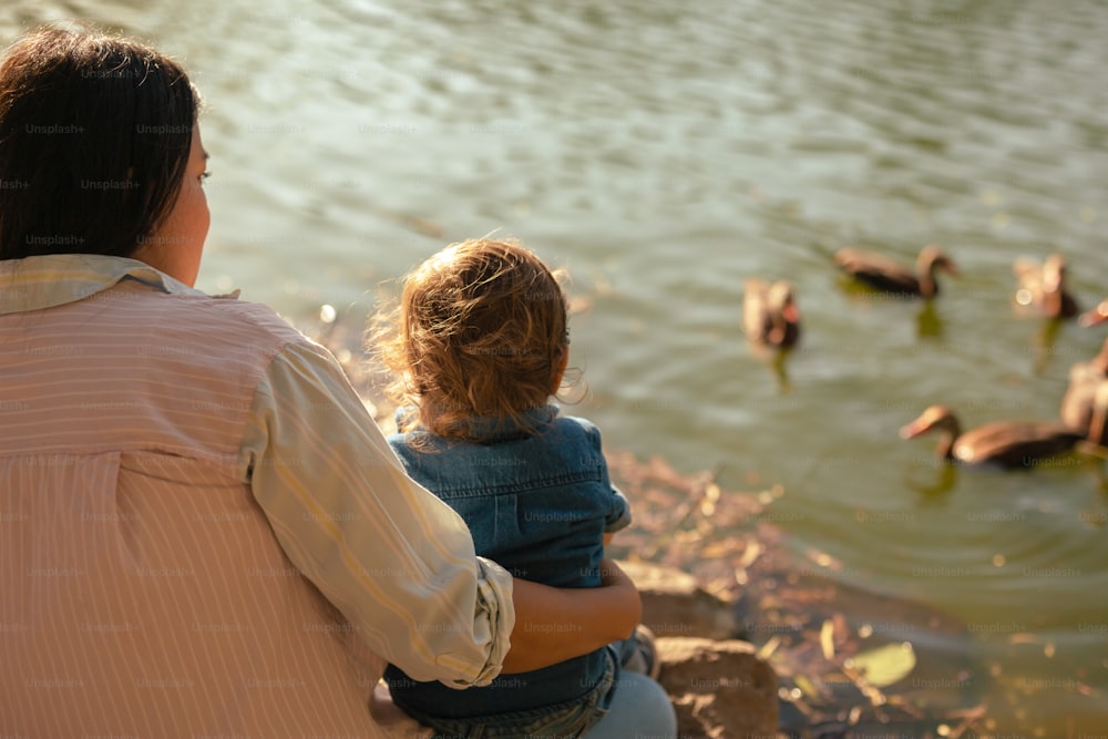
M 731 604 L 701 588 L 680 569 L 643 562 L 617 563 L 643 597 L 643 623 L 656 636 L 732 639 L 740 634 Z

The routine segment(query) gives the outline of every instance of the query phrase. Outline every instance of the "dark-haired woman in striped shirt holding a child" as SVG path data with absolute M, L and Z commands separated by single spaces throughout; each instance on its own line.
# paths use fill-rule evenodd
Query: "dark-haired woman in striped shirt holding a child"
M 193 289 L 197 107 L 115 37 L 0 63 L 0 733 L 380 737 L 386 661 L 462 688 L 627 637 L 617 569 L 475 557 L 324 349 Z

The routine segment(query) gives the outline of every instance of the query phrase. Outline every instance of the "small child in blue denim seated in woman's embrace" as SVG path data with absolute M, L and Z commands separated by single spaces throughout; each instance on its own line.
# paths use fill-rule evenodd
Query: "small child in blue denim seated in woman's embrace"
M 514 240 L 471 239 L 409 275 L 394 314 L 379 319 L 376 346 L 396 372 L 400 433 L 389 443 L 408 473 L 465 520 L 479 555 L 547 585 L 598 585 L 604 544 L 630 512 L 596 427 L 550 403 L 570 358 L 555 276 Z M 391 665 L 386 680 L 439 736 L 577 737 L 617 686 L 630 692 L 617 684 L 620 663 L 656 676 L 653 637 L 639 629 L 639 639 L 484 688 L 417 682 Z

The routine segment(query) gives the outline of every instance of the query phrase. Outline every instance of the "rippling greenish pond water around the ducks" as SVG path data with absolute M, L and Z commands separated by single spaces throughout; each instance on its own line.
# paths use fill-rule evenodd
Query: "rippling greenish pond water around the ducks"
M 199 287 L 357 322 L 445 243 L 517 236 L 587 299 L 574 410 L 607 445 L 780 482 L 797 546 L 966 620 L 993 729 L 1102 731 L 1098 465 L 944 489 L 932 442 L 896 430 L 932 402 L 1054 418 L 1104 339 L 1017 318 L 1010 264 L 1060 250 L 1086 305 L 1108 295 L 1108 4 L 896 4 L 50 0 L 6 3 L 0 34 L 88 18 L 192 70 L 214 173 Z M 830 266 L 926 243 L 963 273 L 933 320 Z M 797 286 L 786 380 L 742 340 L 748 276 Z

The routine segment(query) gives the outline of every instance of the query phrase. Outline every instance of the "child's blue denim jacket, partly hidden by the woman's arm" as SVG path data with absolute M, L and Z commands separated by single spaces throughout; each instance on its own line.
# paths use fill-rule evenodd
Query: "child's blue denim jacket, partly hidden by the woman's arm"
M 478 555 L 516 577 L 596 587 L 603 534 L 630 523 L 627 500 L 608 479 L 601 433 L 585 419 L 560 415 L 555 406 L 533 409 L 527 420 L 532 433 L 502 419 L 476 418 L 471 428 L 479 442 L 417 428 L 389 437 L 389 443 L 408 473 L 465 520 Z M 463 691 L 417 682 L 391 665 L 386 679 L 397 705 L 424 722 L 429 717 L 483 720 L 595 699 L 591 694 L 608 685 L 609 669 L 605 649 L 597 649 Z

